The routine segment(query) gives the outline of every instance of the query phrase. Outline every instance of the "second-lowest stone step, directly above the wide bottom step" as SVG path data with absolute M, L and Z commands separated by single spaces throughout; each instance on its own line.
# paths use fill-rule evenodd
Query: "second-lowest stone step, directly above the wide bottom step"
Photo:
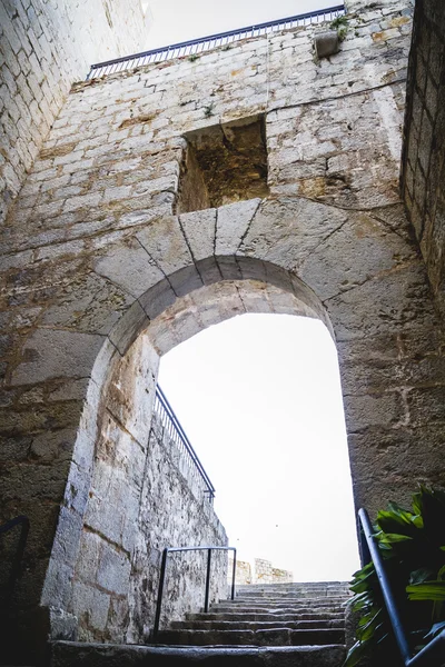
M 178 646 L 323 646 L 344 644 L 343 629 L 160 630 L 157 644 Z

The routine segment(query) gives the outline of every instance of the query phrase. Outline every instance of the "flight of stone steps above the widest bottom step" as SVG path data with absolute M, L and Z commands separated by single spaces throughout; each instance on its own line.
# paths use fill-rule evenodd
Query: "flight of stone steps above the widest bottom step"
M 241 586 L 234 601 L 172 621 L 157 643 L 182 646 L 326 646 L 345 644 L 348 585 Z

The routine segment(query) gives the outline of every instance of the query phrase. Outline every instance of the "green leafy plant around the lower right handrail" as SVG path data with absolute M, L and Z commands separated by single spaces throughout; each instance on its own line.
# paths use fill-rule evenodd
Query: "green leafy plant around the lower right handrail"
M 393 502 L 380 510 L 375 538 L 418 650 L 445 628 L 445 491 L 422 486 L 412 505 L 406 510 Z M 368 653 L 383 651 L 387 660 L 394 643 L 374 564 L 354 574 L 350 590 L 349 604 L 360 618 L 344 667 Z

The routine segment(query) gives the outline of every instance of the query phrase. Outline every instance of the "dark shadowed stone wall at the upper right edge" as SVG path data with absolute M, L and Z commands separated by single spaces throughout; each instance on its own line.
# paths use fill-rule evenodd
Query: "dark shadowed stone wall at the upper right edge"
M 445 7 L 418 2 L 409 58 L 402 189 L 445 313 Z

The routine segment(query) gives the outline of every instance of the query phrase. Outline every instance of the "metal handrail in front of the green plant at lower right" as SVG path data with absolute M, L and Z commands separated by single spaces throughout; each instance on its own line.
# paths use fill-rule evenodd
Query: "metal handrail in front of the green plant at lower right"
M 358 510 L 362 524 L 362 554 L 365 565 L 373 561 L 382 588 L 383 598 L 393 626 L 394 636 L 402 656 L 404 667 L 441 667 L 445 663 L 445 630 L 442 630 L 418 654 L 412 656 L 409 644 L 402 621 L 400 610 L 396 603 L 388 575 L 377 541 L 374 538 L 373 525 L 366 509 Z

